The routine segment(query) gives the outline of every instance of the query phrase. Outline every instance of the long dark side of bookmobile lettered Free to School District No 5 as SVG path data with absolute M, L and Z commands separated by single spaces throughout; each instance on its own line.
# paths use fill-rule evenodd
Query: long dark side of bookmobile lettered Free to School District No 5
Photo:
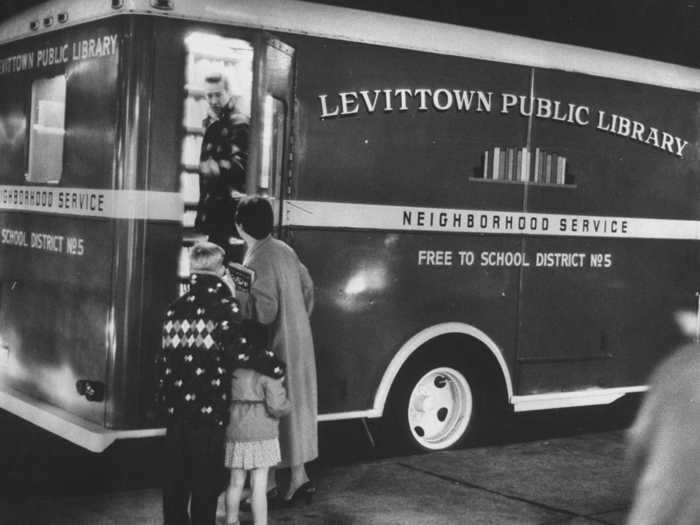
M 371 408 L 396 351 L 443 322 L 495 341 L 516 395 L 644 383 L 680 340 L 673 313 L 695 301 L 696 232 L 683 221 L 697 220 L 696 94 L 289 40 L 301 201 L 289 239 L 319 293 L 322 413 Z M 465 91 L 492 105 L 460 109 L 449 93 Z M 628 136 L 603 129 L 613 113 Z M 622 232 L 625 218 L 636 222 Z

